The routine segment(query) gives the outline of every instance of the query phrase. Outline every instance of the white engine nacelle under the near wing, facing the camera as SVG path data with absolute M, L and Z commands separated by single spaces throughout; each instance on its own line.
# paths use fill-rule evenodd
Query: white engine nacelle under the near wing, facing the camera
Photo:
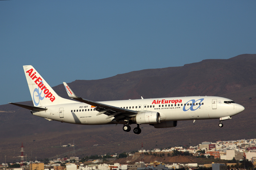
M 131 120 L 139 124 L 160 123 L 160 114 L 158 112 L 139 113 L 132 117 Z

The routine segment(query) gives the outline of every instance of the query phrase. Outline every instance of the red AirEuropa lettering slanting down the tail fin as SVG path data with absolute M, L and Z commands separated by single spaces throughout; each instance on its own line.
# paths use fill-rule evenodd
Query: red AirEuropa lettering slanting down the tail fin
M 49 91 L 49 89 L 45 87 L 41 77 L 36 76 L 36 72 L 32 74 L 33 71 L 34 71 L 33 68 L 31 68 L 30 70 L 26 71 L 26 73 L 29 74 L 29 77 L 32 80 L 35 79 L 35 84 L 37 84 L 42 91 L 44 90 L 45 98 L 50 98 L 50 101 L 53 102 L 55 100 L 55 96 L 53 96 L 52 93 Z

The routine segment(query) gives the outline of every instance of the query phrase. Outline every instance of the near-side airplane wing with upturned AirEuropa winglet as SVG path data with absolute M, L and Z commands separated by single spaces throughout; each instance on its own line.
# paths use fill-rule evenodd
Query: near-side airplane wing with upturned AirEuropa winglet
M 127 117 L 133 117 L 138 113 L 137 111 L 133 111 L 133 110 L 125 109 L 125 108 L 118 108 L 115 106 L 105 105 L 103 103 L 93 102 L 93 101 L 87 100 L 87 99 L 82 99 L 81 97 L 78 97 L 73 93 L 73 91 L 70 89 L 70 87 L 67 85 L 66 82 L 63 82 L 63 84 L 64 84 L 67 94 L 68 94 L 68 96 L 70 96 L 70 98 L 78 100 L 79 102 L 84 102 L 88 105 L 95 106 L 96 107 L 95 110 L 99 112 L 97 114 L 97 116 L 100 114 L 105 114 L 105 115 L 108 115 L 108 117 L 106 119 L 115 117 L 113 120 L 116 120 L 117 122 L 119 122 L 119 120 L 125 119 Z

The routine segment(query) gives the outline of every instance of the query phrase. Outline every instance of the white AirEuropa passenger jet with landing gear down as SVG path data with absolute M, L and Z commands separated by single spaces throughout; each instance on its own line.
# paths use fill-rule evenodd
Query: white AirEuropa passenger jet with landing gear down
M 155 128 L 176 127 L 177 121 L 231 119 L 244 111 L 242 105 L 233 100 L 218 96 L 163 97 L 157 99 L 129 99 L 94 102 L 76 96 L 64 83 L 68 96 L 64 99 L 53 91 L 32 65 L 23 66 L 34 106 L 10 103 L 29 109 L 35 116 L 49 121 L 55 120 L 80 125 L 122 124 L 125 132 L 131 130 L 140 134 L 140 125 L 148 124 Z

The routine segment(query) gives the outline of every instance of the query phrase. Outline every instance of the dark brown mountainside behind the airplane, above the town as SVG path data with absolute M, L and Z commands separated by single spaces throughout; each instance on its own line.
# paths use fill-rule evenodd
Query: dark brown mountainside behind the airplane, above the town
M 50 76 L 50 75 L 49 75 Z M 47 81 L 47 77 L 44 77 Z M 24 81 L 26 81 L 24 77 Z M 155 129 L 142 125 L 142 133 L 126 133 L 122 125 L 72 125 L 33 116 L 29 110 L 14 105 L 0 105 L 0 162 L 18 160 L 23 142 L 32 159 L 74 155 L 122 153 L 203 141 L 251 139 L 256 137 L 256 54 L 230 59 L 207 59 L 182 67 L 147 69 L 118 74 L 99 80 L 76 80 L 69 83 L 75 94 L 93 101 L 140 99 L 171 96 L 223 96 L 245 107 L 245 111 L 224 121 L 218 119 L 179 121 L 177 127 Z M 64 86 L 53 89 L 68 98 Z M 29 91 L 28 91 L 29 93 Z M 31 101 L 21 102 L 32 105 Z M 132 125 L 134 128 L 135 125 Z M 93 147 L 93 144 L 99 144 Z M 39 158 L 40 157 L 40 158 Z

